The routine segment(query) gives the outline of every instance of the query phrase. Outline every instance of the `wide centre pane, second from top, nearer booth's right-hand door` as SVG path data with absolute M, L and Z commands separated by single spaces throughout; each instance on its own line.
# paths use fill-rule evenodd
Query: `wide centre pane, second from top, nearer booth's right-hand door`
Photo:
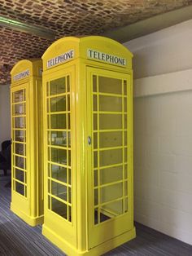
M 99 96 L 99 111 L 122 111 L 122 98 L 111 96 Z

